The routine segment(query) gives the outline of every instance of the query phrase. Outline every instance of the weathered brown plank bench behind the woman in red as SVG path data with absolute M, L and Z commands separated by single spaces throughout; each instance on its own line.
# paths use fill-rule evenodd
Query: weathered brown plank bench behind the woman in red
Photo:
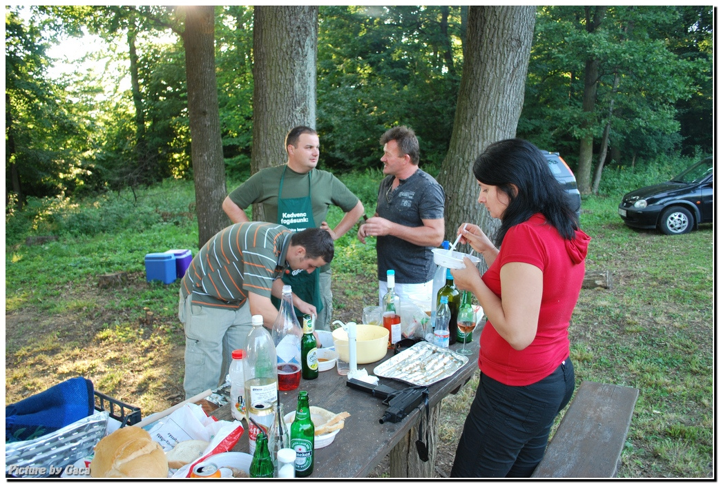
M 615 477 L 638 396 L 636 388 L 582 381 L 532 477 Z

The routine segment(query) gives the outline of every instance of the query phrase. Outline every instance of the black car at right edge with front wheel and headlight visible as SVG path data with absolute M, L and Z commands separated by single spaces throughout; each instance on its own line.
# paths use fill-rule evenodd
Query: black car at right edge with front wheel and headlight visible
M 659 228 L 668 236 L 714 220 L 713 157 L 692 164 L 669 182 L 624 195 L 619 216 L 634 228 Z

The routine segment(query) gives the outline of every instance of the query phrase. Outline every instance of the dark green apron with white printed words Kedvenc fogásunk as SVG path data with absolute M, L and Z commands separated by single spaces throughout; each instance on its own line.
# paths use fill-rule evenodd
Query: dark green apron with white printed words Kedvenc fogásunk
M 298 198 L 283 198 L 282 187 L 285 182 L 285 171 L 287 166 L 282 172 L 280 178 L 280 192 L 278 193 L 277 202 L 277 223 L 285 225 L 290 231 L 299 232 L 306 228 L 315 227 L 314 217 L 312 215 L 312 175 L 308 175 L 309 190 L 306 197 Z M 283 214 L 295 214 L 297 216 L 291 216 L 284 218 Z M 285 220 L 283 220 L 283 218 Z M 282 281 L 285 284 L 292 286 L 292 292 L 298 295 L 303 301 L 313 304 L 317 309 L 317 313 L 324 307 L 319 297 L 319 269 L 315 269 L 311 274 L 308 274 L 304 269 L 298 269 L 293 271 L 288 269 L 282 276 Z M 272 297 L 273 304 L 275 307 L 280 307 L 280 299 Z M 295 314 L 299 321 L 302 320 L 302 312 L 294 308 Z

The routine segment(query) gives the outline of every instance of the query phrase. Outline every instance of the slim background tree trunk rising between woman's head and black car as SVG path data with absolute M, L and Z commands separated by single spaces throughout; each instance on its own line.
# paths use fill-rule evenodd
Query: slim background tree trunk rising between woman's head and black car
M 600 26 L 604 19 L 606 6 L 596 6 L 594 17 L 591 17 L 592 7 L 585 6 L 585 19 L 587 22 L 587 32 L 590 34 Z M 582 139 L 580 140 L 580 159 L 577 166 L 577 187 L 580 193 L 590 191 L 590 182 L 592 180 L 592 153 L 594 151 L 594 136 L 592 135 L 592 118 L 594 116 L 594 108 L 597 102 L 597 83 L 599 81 L 599 60 L 595 57 L 588 57 L 585 61 L 585 88 L 582 97 L 582 111 L 585 116 L 580 123 Z

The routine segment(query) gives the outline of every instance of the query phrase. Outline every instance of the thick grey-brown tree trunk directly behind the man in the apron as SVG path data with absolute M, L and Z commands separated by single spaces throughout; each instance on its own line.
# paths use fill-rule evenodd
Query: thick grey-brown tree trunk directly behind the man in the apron
M 315 127 L 318 10 L 255 6 L 252 173 L 287 161 L 290 129 Z M 262 208 L 252 205 L 252 219 L 264 218 Z

